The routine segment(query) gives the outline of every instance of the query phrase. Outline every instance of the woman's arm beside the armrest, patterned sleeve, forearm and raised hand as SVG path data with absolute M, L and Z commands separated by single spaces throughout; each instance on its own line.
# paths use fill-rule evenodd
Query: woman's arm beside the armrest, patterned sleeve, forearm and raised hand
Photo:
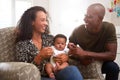
M 45 47 L 38 54 L 37 50 L 33 47 L 30 49 L 30 44 L 27 45 L 24 42 L 18 42 L 16 44 L 16 59 L 20 62 L 28 62 L 39 65 L 44 59 L 50 58 L 53 53 L 52 48 Z

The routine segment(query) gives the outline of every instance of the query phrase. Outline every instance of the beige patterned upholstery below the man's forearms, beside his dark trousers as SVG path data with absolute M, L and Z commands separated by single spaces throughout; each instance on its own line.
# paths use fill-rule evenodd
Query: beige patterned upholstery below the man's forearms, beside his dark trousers
M 82 65 L 73 59 L 70 59 L 69 62 L 71 65 L 76 65 L 79 68 L 85 80 L 104 80 L 104 77 L 101 73 L 102 62 L 94 61 L 87 66 Z

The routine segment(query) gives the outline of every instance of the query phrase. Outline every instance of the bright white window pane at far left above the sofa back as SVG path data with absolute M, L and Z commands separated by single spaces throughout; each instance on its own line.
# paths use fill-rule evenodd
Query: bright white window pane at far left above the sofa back
M 12 25 L 11 0 L 0 0 L 0 28 Z

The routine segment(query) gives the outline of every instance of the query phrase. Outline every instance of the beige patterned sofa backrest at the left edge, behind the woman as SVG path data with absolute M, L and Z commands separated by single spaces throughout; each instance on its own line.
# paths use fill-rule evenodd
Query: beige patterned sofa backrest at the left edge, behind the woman
M 0 62 L 14 61 L 15 27 L 0 29 Z

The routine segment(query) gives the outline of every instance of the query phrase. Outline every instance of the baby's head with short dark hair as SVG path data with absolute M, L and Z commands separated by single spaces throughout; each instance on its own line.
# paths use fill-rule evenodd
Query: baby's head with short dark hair
M 64 50 L 67 42 L 67 38 L 63 34 L 58 34 L 54 37 L 54 46 L 57 50 Z

